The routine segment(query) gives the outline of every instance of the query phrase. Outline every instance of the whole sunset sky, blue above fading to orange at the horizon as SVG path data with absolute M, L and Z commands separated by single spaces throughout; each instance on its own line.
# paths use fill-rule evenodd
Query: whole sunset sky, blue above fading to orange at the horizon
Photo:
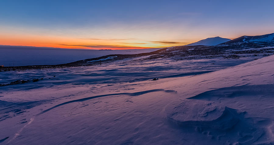
M 0 0 L 0 45 L 142 49 L 274 32 L 273 0 Z

